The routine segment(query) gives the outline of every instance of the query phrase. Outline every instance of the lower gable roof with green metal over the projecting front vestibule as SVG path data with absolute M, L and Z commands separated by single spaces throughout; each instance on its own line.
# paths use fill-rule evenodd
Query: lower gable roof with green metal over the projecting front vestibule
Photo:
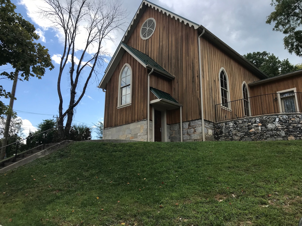
M 155 72 L 162 74 L 163 76 L 169 79 L 175 78 L 168 71 L 166 71 L 162 66 L 156 63 L 151 57 L 121 42 L 119 49 L 115 52 L 113 58 L 109 62 L 109 65 L 107 67 L 108 70 L 105 71 L 105 75 L 102 78 L 100 84 L 98 85 L 98 88 L 105 89 L 107 82 L 110 80 L 115 68 L 117 67 L 117 64 L 120 62 L 120 59 L 122 58 L 125 51 L 128 52 L 134 59 L 136 59 L 144 67 L 149 69 L 153 68 Z

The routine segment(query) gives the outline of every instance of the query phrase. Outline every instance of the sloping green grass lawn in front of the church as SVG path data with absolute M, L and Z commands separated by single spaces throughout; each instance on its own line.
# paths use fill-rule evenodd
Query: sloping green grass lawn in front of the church
M 297 226 L 301 146 L 75 143 L 0 174 L 0 224 Z

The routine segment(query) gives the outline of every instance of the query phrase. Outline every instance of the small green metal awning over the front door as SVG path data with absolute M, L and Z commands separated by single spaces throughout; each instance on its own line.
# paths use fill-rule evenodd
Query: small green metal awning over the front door
M 150 87 L 150 91 L 158 98 L 151 100 L 150 104 L 159 108 L 164 108 L 167 110 L 172 110 L 182 107 L 169 93 L 163 92 L 159 89 Z

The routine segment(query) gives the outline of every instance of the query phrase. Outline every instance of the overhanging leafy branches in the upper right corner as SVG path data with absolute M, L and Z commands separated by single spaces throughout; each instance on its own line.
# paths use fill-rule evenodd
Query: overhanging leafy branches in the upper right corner
M 273 30 L 286 35 L 283 42 L 288 52 L 302 56 L 302 1 L 272 0 L 271 6 L 275 11 L 267 17 L 266 23 L 275 23 Z

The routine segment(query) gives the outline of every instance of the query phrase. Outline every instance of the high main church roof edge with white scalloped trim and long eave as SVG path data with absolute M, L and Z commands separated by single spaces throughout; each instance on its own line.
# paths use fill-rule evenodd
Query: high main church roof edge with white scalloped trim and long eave
M 104 89 L 104 87 L 106 86 L 106 83 L 109 81 L 109 79 L 111 78 L 111 75 L 113 73 L 113 71 L 111 70 L 111 67 L 114 66 L 115 64 L 113 64 L 112 61 L 115 61 L 116 59 L 120 59 L 121 54 L 120 49 L 122 47 L 124 47 L 123 45 L 125 45 L 124 43 L 127 43 L 127 41 L 129 40 L 131 34 L 133 33 L 135 27 L 137 26 L 138 21 L 140 20 L 140 17 L 143 15 L 143 12 L 145 11 L 145 9 L 147 7 L 152 7 L 160 12 L 162 12 L 163 14 L 166 14 L 168 16 L 170 16 L 171 18 L 174 18 L 175 20 L 179 20 L 180 22 L 184 22 L 184 24 L 188 24 L 190 27 L 194 27 L 194 29 L 199 29 L 201 32 L 203 30 L 205 30 L 204 36 L 207 37 L 208 39 L 210 39 L 215 45 L 219 46 L 221 49 L 223 49 L 224 51 L 228 52 L 233 58 L 235 58 L 237 61 L 239 61 L 241 64 L 243 64 L 245 67 L 247 67 L 249 70 L 251 70 L 252 72 L 254 72 L 260 79 L 266 79 L 268 78 L 268 76 L 262 72 L 261 70 L 259 70 L 258 67 L 256 67 L 254 64 L 252 64 L 251 62 L 249 62 L 248 60 L 246 60 L 243 56 L 241 56 L 239 53 L 237 53 L 235 50 L 233 50 L 230 46 L 226 45 L 226 43 L 224 43 L 223 41 L 221 41 L 219 38 L 217 38 L 217 36 L 215 36 L 213 33 L 211 33 L 209 30 L 207 30 L 205 27 L 203 27 L 202 25 L 198 25 L 194 22 L 192 22 L 191 20 L 187 20 L 184 17 L 181 17 L 175 13 L 172 13 L 169 10 L 166 10 L 164 8 L 161 8 L 158 5 L 155 5 L 147 0 L 143 0 L 142 3 L 140 4 L 140 7 L 138 8 L 136 14 L 134 15 L 128 29 L 125 32 L 125 35 L 123 37 L 123 39 L 121 40 L 119 46 L 117 47 L 117 50 L 114 52 L 113 57 L 111 58 L 111 61 L 109 62 L 106 70 L 105 70 L 105 74 L 104 77 L 102 78 L 100 84 L 98 85 L 99 88 Z M 129 46 L 130 47 L 130 46 Z M 130 47 L 131 48 L 131 47 Z M 121 54 L 121 55 L 120 55 Z M 114 66 L 114 69 L 116 68 L 117 64 Z M 154 68 L 155 70 L 156 68 Z M 108 73 L 108 71 L 112 71 L 112 73 Z M 107 78 L 107 74 L 109 74 L 109 78 Z M 105 83 L 104 83 L 105 82 Z

